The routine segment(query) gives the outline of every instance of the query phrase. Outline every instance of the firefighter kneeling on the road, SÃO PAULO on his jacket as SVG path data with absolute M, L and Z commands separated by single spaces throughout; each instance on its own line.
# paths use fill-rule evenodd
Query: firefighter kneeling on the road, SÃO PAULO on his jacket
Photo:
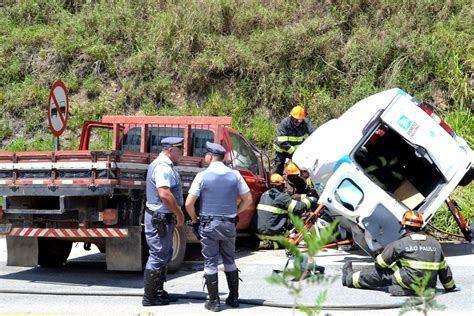
M 342 268 L 342 284 L 361 289 L 376 289 L 388 286 L 394 296 L 415 295 L 411 285 L 415 276 L 423 279 L 430 274 L 427 287 L 435 288 L 436 280 L 446 291 L 456 288 L 451 269 L 444 259 L 439 242 L 421 232 L 423 217 L 417 211 L 407 211 L 402 218 L 406 233 L 393 241 L 376 257 L 375 266 L 362 271 L 352 270 L 352 262 Z

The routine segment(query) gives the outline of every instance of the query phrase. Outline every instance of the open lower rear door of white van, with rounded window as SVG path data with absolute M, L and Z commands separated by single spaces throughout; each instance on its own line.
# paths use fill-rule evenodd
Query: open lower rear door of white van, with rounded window
M 358 225 L 372 251 L 380 248 L 376 243 L 384 247 L 400 235 L 405 209 L 353 163 L 339 166 L 326 183 L 319 203 Z

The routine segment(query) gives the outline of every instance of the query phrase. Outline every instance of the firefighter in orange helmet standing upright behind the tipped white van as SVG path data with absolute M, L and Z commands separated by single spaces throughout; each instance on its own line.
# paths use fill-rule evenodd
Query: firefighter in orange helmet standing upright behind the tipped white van
M 275 167 L 273 173 L 283 174 L 286 158 L 291 159 L 296 148 L 314 131 L 311 122 L 305 118 L 301 105 L 291 109 L 290 115 L 278 124 L 278 134 L 273 144 Z

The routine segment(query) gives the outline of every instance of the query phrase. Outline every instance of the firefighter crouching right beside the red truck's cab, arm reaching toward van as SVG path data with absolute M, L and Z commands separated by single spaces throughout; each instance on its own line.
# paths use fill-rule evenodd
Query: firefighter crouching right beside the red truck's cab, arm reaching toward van
M 271 188 L 262 194 L 252 219 L 255 235 L 261 240 L 259 248 L 278 248 L 276 240 L 290 226 L 288 213 L 302 215 L 316 208 L 316 198 L 292 199 L 285 191 L 285 180 L 278 173 L 270 177 Z

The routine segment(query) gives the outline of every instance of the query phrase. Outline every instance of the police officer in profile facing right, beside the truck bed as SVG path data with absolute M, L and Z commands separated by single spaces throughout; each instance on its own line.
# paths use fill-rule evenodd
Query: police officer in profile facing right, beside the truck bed
M 166 265 L 173 253 L 173 230 L 184 222 L 181 211 L 183 189 L 174 168 L 181 154 L 183 138 L 162 139 L 163 150 L 148 166 L 146 182 L 145 236 L 150 256 L 144 272 L 143 306 L 168 305 L 177 301 L 164 289 Z

